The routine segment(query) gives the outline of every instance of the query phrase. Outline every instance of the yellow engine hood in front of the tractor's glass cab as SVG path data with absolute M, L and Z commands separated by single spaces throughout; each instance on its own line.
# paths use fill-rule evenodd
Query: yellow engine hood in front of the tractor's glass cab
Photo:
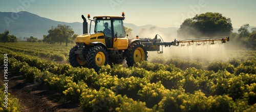
M 102 42 L 105 44 L 104 34 L 102 32 L 98 33 L 86 33 L 76 37 L 76 43 L 86 43 L 88 46 L 92 46 L 92 42 Z

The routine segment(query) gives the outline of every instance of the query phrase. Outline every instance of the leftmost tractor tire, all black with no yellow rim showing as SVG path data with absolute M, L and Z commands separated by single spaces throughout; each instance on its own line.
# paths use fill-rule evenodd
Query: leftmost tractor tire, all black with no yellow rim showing
M 74 46 L 69 52 L 69 62 L 74 67 L 87 67 L 87 61 L 80 60 L 78 54 L 75 54 L 77 46 Z

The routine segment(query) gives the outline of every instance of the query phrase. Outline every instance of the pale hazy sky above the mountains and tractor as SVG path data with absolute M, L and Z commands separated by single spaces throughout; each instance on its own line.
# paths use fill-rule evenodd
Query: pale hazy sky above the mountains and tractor
M 255 0 L 1 0 L 0 12 L 28 11 L 68 23 L 82 22 L 81 14 L 121 16 L 124 12 L 124 23 L 163 28 L 179 27 L 184 19 L 196 14 L 219 12 L 231 18 L 233 28 L 240 28 L 244 24 L 256 26 L 255 5 Z

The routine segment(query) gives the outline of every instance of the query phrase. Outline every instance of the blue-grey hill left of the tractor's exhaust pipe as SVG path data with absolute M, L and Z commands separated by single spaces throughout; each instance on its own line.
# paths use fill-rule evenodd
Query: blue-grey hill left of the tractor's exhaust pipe
M 18 15 L 18 17 L 16 15 Z M 69 25 L 76 34 L 82 34 L 81 23 L 65 23 L 55 21 L 26 11 L 21 11 L 18 13 L 0 12 L 0 19 L 0 33 L 7 29 L 10 31 L 10 34 L 15 35 L 16 37 L 34 36 L 42 39 L 43 35 L 48 34 L 48 30 L 50 30 L 52 26 L 56 27 L 58 24 Z M 9 22 L 10 24 L 8 26 L 8 22 L 6 23 L 6 21 L 13 22 Z

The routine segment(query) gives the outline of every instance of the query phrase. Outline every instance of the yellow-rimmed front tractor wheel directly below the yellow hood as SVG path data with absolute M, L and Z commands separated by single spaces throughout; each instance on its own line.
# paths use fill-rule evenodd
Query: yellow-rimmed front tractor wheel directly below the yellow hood
M 102 65 L 109 63 L 109 53 L 101 46 L 89 49 L 87 54 L 87 65 L 95 71 L 99 71 Z

